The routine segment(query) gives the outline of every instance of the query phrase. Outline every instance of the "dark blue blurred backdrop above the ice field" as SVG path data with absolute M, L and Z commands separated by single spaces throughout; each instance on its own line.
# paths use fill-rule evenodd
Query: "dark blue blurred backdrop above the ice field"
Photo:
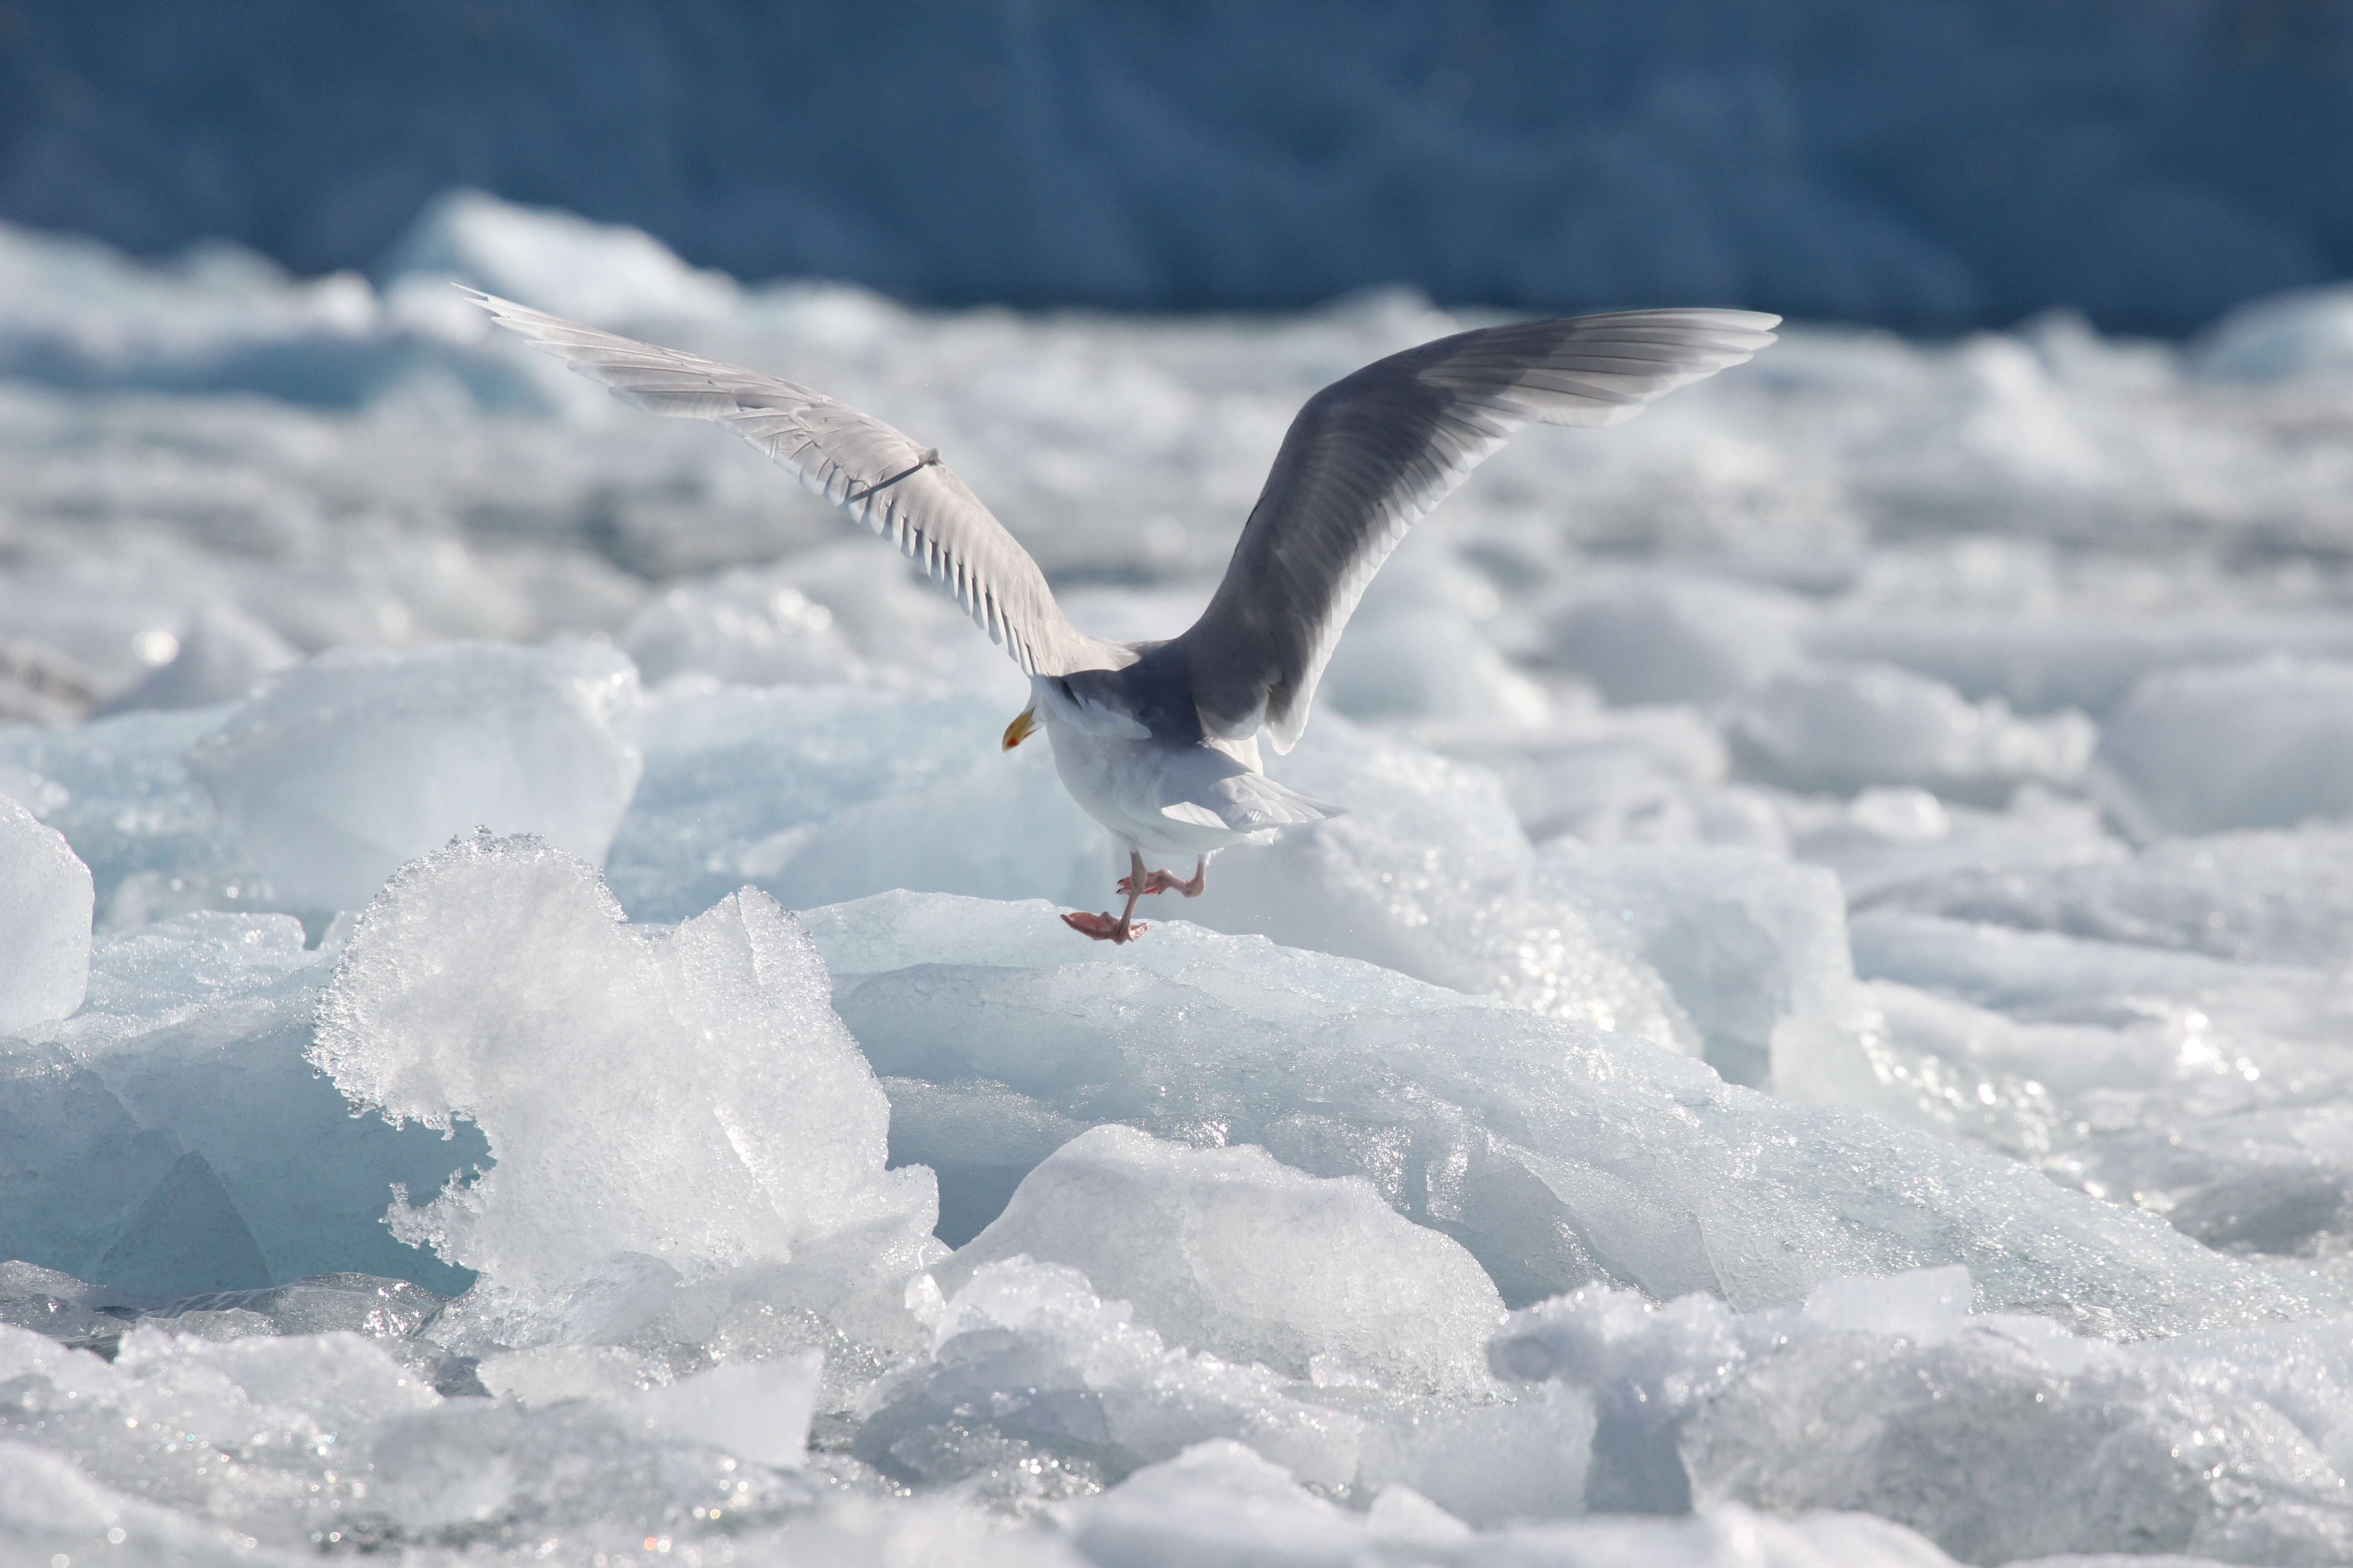
M 471 186 L 736 277 L 2181 334 L 2353 261 L 2334 0 L 9 0 L 0 219 L 369 268 Z

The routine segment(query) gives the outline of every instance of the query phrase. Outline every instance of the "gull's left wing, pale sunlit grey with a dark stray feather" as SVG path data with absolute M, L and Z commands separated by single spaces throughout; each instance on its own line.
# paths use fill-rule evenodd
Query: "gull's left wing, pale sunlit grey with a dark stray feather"
M 939 451 L 805 386 L 541 315 L 480 289 L 473 303 L 532 348 L 649 414 L 708 418 L 918 562 L 1024 675 L 1071 675 L 1127 654 L 1064 618 L 1045 574 Z

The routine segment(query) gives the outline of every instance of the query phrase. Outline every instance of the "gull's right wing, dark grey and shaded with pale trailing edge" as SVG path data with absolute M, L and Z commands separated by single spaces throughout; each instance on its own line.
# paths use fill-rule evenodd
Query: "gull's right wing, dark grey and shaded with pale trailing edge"
M 1348 614 L 1424 512 L 1529 421 L 1614 425 L 1772 343 L 1779 315 L 1617 310 L 1485 327 L 1315 393 L 1226 581 L 1179 639 L 1202 726 L 1292 750 Z

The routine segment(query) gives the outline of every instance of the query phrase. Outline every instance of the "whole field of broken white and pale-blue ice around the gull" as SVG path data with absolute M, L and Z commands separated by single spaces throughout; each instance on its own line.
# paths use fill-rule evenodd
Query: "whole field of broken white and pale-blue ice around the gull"
M 1459 324 L 0 230 L 0 1556 L 2353 1563 L 2339 296 L 1522 437 L 1108 950 L 958 611 L 447 275 L 1120 637 Z

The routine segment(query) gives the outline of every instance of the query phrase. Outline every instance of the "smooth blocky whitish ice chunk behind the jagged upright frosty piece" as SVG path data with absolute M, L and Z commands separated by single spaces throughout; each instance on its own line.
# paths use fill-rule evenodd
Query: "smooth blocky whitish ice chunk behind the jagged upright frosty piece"
M 358 910 L 475 827 L 605 858 L 642 769 L 638 672 L 591 644 L 346 649 L 287 670 L 188 748 L 280 900 Z

